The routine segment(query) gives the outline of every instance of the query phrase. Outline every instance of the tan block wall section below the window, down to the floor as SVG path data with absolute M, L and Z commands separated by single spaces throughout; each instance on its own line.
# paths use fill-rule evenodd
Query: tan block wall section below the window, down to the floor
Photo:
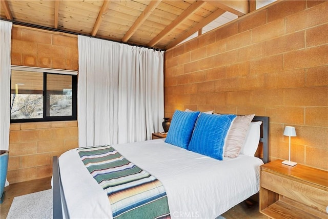
M 52 176 L 52 157 L 77 147 L 77 131 L 76 121 L 11 124 L 8 181 Z

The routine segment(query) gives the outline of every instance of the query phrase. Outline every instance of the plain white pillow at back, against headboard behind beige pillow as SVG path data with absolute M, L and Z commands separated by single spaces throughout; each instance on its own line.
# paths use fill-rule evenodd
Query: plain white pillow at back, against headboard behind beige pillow
M 260 142 L 261 124 L 261 121 L 251 123 L 247 131 L 245 141 L 241 146 L 241 154 L 249 156 L 255 155 L 258 144 Z

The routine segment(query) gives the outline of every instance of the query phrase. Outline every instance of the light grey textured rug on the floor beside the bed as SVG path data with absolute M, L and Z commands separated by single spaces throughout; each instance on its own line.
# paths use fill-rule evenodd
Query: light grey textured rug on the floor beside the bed
M 7 219 L 52 218 L 52 190 L 14 197 Z

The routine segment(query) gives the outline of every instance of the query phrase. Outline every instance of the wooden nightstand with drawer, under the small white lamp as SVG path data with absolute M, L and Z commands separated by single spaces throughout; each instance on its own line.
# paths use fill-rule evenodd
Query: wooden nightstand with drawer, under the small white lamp
M 328 218 L 328 172 L 281 162 L 260 166 L 260 212 L 270 218 Z

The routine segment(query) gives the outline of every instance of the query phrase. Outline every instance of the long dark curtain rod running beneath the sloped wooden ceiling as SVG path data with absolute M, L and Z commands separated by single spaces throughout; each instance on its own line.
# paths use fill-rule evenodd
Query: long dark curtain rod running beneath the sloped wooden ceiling
M 76 33 L 76 32 L 68 31 L 68 30 L 59 30 L 59 29 L 55 29 L 55 28 L 52 28 L 52 27 L 44 27 L 44 26 L 40 26 L 40 25 L 36 25 L 36 24 L 27 24 L 27 23 L 24 23 L 24 22 L 12 21 L 12 20 L 5 19 L 5 18 L 0 18 L 0 20 L 12 22 L 15 25 L 33 27 L 33 28 L 37 28 L 37 29 L 43 29 L 43 30 L 49 30 L 49 31 L 55 31 L 55 32 L 62 32 L 62 33 L 68 33 L 68 34 L 74 34 L 74 35 L 89 36 L 89 37 L 92 37 L 92 38 L 105 39 L 106 41 L 111 41 L 111 42 L 115 42 L 115 43 L 127 44 L 127 45 L 130 45 L 130 46 L 137 46 L 137 47 L 147 48 L 147 49 L 153 49 L 155 51 L 166 51 L 165 49 L 158 49 L 158 48 L 154 48 L 154 47 L 142 46 L 142 45 L 137 45 L 137 44 L 129 44 L 129 43 L 125 43 L 125 42 L 114 41 L 113 39 L 107 39 L 107 38 L 102 38 L 102 37 L 98 37 L 98 36 L 90 36 L 90 35 L 87 35 L 85 33 Z

